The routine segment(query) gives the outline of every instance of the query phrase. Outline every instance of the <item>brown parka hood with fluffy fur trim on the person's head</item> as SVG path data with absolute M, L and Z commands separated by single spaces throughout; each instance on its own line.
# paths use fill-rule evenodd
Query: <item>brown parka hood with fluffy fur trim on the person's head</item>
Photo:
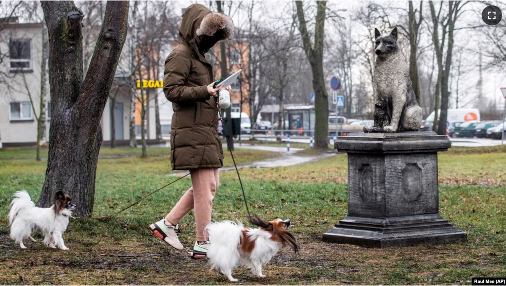
M 234 32 L 232 19 L 225 14 L 211 12 L 201 4 L 193 4 L 188 7 L 183 14 L 181 28 L 179 29 L 179 43 L 185 41 L 191 44 L 193 41 L 199 41 L 203 35 L 209 35 L 211 31 L 217 29 L 215 37 L 217 41 L 230 39 Z

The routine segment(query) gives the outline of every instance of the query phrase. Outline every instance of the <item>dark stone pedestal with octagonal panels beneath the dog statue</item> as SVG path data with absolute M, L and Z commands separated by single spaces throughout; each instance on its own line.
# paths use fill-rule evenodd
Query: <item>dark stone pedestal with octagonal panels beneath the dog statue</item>
M 348 153 L 348 216 L 323 241 L 384 248 L 466 242 L 439 215 L 438 155 L 451 141 L 436 132 L 352 133 L 334 148 Z

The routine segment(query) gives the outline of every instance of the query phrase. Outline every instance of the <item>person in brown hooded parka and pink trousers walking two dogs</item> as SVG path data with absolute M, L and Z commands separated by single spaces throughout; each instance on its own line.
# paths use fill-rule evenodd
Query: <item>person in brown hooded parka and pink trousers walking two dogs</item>
M 218 168 L 223 167 L 223 147 L 217 132 L 217 95 L 222 87 L 213 87 L 213 68 L 205 53 L 232 33 L 228 16 L 200 4 L 191 5 L 183 14 L 178 45 L 165 60 L 163 92 L 174 110 L 171 165 L 173 170 L 189 170 L 192 186 L 165 218 L 149 227 L 164 242 L 182 250 L 177 235 L 179 221 L 193 209 L 195 258 L 205 257 L 209 247 L 204 228 L 210 223 L 213 198 L 220 185 Z

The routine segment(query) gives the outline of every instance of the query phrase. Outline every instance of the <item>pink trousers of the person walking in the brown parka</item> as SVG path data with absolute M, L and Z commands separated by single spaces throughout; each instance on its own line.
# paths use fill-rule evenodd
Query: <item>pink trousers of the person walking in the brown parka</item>
M 197 225 L 197 241 L 205 242 L 208 237 L 204 231 L 207 224 L 211 222 L 213 210 L 213 198 L 216 189 L 220 185 L 218 168 L 191 169 L 192 186 L 179 199 L 165 219 L 176 225 L 191 210 L 195 213 L 195 224 Z

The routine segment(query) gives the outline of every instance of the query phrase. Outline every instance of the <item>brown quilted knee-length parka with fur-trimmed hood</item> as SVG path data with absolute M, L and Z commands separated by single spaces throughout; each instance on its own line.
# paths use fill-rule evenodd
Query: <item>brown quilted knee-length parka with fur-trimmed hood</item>
M 163 92 L 172 102 L 171 132 L 173 170 L 223 167 L 223 147 L 218 135 L 218 109 L 207 85 L 214 81 L 213 68 L 199 52 L 204 35 L 216 41 L 232 36 L 232 20 L 194 4 L 183 15 L 178 45 L 165 60 Z

